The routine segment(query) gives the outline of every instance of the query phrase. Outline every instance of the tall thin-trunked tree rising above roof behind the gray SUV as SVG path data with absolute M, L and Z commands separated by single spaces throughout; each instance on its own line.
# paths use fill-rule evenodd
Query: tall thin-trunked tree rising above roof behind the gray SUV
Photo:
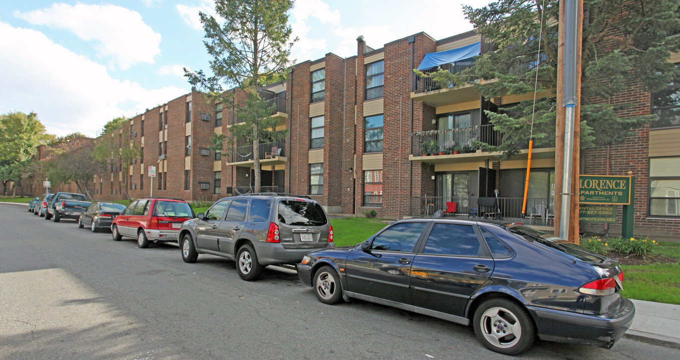
M 291 0 L 215 1 L 219 20 L 200 13 L 207 39 L 203 43 L 212 57 L 210 70 L 214 75 L 184 69 L 190 84 L 205 90 L 215 101 L 239 108 L 239 120 L 243 120 L 243 124 L 230 128 L 236 139 L 229 142 L 252 144 L 256 192 L 260 191 L 259 143 L 285 136 L 285 132 L 273 131 L 275 121 L 271 120 L 271 112 L 258 92 L 261 86 L 286 77 L 290 48 L 296 41 L 290 41 L 292 30 L 288 25 L 288 11 L 292 5 Z M 222 86 L 243 91 L 245 104 L 235 103 L 237 90 L 224 93 Z M 216 147 L 223 147 L 224 137 L 214 138 Z

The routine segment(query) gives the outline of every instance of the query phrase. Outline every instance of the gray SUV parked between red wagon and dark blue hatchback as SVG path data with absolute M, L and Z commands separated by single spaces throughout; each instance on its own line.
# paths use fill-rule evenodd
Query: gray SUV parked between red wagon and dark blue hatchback
M 296 264 L 310 251 L 335 247 L 333 226 L 322 206 L 306 196 L 261 193 L 218 200 L 180 229 L 184 262 L 199 254 L 236 262 L 245 281 L 272 264 Z

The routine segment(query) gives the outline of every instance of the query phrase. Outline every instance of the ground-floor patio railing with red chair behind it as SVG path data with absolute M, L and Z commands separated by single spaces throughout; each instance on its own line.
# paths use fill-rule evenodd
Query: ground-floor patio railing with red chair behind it
M 488 205 L 484 205 L 479 204 L 479 198 L 413 196 L 409 204 L 409 215 L 412 217 L 486 218 L 542 225 L 552 224 L 555 199 L 527 198 L 526 214 L 522 215 L 523 200 L 523 198 L 486 198 Z M 455 208 L 455 211 L 448 212 L 452 208 Z

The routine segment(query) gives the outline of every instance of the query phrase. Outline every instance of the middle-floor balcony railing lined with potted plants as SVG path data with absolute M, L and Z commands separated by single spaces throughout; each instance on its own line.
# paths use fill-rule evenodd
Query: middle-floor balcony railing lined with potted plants
M 505 137 L 494 126 L 477 125 L 466 128 L 431 130 L 411 134 L 411 154 L 413 156 L 466 154 L 482 148 L 482 143 L 491 146 L 503 145 Z M 555 138 L 548 137 L 534 141 L 534 148 L 554 147 Z M 527 142 L 522 149 L 528 149 Z

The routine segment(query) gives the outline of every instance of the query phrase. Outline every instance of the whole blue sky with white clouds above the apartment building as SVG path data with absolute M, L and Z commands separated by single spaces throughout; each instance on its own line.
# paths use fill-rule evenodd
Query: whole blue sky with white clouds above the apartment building
M 292 59 L 356 55 L 424 31 L 472 30 L 485 0 L 296 0 Z M 48 132 L 97 136 L 106 122 L 186 94 L 183 67 L 208 69 L 199 12 L 212 0 L 0 1 L 0 113 L 35 111 Z M 441 14 L 448 14 L 446 17 Z

